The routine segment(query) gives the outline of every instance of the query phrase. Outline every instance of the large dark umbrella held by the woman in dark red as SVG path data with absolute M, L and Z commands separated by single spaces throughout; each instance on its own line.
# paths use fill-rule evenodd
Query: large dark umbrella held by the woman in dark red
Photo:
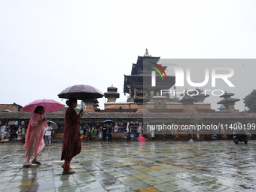
M 96 99 L 103 97 L 103 93 L 100 92 L 98 89 L 96 89 L 93 86 L 85 85 L 85 84 L 76 84 L 71 87 L 66 88 L 65 90 L 62 90 L 58 94 L 59 98 L 69 99 L 71 97 L 74 97 L 78 100 L 83 99 Z

